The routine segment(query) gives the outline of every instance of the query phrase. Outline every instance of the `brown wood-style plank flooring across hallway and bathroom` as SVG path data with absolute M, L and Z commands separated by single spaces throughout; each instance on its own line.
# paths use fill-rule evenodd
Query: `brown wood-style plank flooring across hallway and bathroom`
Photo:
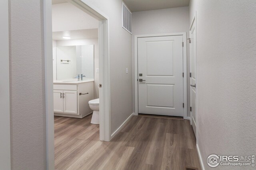
M 188 120 L 133 116 L 103 142 L 90 119 L 54 117 L 56 170 L 201 170 Z

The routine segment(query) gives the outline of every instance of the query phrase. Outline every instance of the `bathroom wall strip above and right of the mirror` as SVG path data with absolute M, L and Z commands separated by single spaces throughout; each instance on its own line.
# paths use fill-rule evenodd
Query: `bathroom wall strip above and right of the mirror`
M 71 39 L 56 41 L 57 46 L 70 46 L 70 45 L 94 45 L 94 98 L 99 98 L 99 73 L 96 73 L 96 68 L 99 68 L 99 47 L 98 38 L 94 39 Z

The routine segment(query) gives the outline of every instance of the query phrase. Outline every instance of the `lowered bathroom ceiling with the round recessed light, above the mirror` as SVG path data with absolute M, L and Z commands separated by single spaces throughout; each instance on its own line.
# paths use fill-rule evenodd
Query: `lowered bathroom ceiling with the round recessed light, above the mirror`
M 72 31 L 57 31 L 52 32 L 53 40 L 65 40 L 62 37 L 68 36 L 70 39 L 90 39 L 98 38 L 98 29 L 82 29 Z

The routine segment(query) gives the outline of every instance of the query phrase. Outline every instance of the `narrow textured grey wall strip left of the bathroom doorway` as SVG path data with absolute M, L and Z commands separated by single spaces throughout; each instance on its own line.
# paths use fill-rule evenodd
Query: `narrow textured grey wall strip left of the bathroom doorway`
M 42 1 L 9 2 L 12 169 L 45 170 Z

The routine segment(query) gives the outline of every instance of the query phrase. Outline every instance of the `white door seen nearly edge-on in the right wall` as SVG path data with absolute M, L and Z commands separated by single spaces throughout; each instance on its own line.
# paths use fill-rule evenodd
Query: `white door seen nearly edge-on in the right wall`
M 196 23 L 190 29 L 190 114 L 191 123 L 196 135 Z

